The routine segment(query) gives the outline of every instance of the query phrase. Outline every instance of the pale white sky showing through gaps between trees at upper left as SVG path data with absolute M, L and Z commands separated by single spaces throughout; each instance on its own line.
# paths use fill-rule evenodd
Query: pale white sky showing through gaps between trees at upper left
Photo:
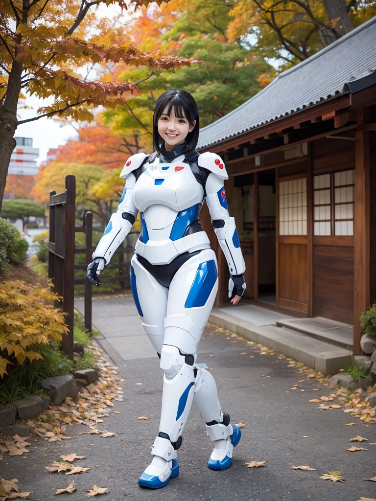
M 105 4 L 100 4 L 96 10 L 98 17 L 111 17 L 121 12 L 121 9 L 116 5 L 106 7 Z M 123 11 L 124 21 L 128 19 L 126 11 Z M 18 119 L 27 120 L 36 117 L 38 108 L 49 105 L 53 99 L 38 99 L 35 95 L 26 94 L 25 104 L 31 109 L 18 110 Z M 75 124 L 75 127 L 83 124 Z M 50 148 L 56 148 L 59 145 L 64 145 L 70 139 L 77 139 L 78 134 L 74 127 L 65 125 L 62 122 L 53 118 L 40 118 L 34 122 L 21 124 L 16 130 L 16 137 L 31 137 L 33 138 L 33 147 L 40 149 L 40 156 L 37 159 L 37 164 L 46 160 L 47 152 Z

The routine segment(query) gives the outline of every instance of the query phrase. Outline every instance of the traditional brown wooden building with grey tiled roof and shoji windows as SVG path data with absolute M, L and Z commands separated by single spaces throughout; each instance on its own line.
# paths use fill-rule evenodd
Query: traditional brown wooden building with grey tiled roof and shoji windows
M 358 319 L 376 300 L 376 17 L 201 129 L 198 146 L 226 163 L 246 298 L 351 324 L 361 354 Z

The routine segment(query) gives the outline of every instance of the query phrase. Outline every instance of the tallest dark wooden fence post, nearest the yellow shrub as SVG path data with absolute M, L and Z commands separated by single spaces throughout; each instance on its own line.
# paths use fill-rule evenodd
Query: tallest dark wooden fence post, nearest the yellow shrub
M 65 323 L 69 333 L 63 335 L 62 345 L 64 352 L 73 360 L 73 313 L 74 313 L 74 254 L 75 254 L 75 206 L 76 206 L 76 178 L 65 178 L 66 204 L 64 222 L 64 288 L 63 304 L 67 313 Z

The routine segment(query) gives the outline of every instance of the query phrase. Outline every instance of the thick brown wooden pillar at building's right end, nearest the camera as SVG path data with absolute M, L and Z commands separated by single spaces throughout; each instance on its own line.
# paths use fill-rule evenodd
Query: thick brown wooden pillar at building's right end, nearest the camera
M 369 132 L 355 134 L 354 188 L 354 355 L 361 355 L 359 317 L 370 303 Z

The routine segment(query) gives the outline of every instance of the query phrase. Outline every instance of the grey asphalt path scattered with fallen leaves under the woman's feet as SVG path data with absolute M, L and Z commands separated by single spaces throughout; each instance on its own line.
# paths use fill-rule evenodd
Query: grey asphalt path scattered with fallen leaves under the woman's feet
M 319 404 L 309 402 L 329 395 L 332 390 L 317 379 L 307 378 L 299 366 L 288 367 L 291 362 L 279 359 L 277 353 L 262 355 L 260 347 L 231 337 L 231 333 L 215 326 L 207 327 L 204 332 L 198 361 L 211 368 L 222 410 L 230 414 L 232 423 L 245 424 L 239 445 L 234 449 L 233 464 L 227 470 L 208 468 L 212 443 L 203 420 L 192 408 L 178 450 L 179 476 L 162 489 L 149 490 L 137 485 L 151 460 L 150 447 L 158 433 L 162 373 L 155 356 L 124 360 L 118 365 L 119 376 L 124 378 L 121 383 L 124 401 L 114 402 L 110 416 L 98 426 L 118 436 L 83 435 L 80 431 L 88 428 L 82 425 L 68 427 L 66 433 L 76 438 L 62 442 L 48 443 L 39 437 L 34 441 L 31 435 L 27 458 L 5 456 L 0 462 L 1 475 L 18 478 L 20 490 L 33 491 L 30 494 L 33 501 L 55 499 L 56 489 L 67 487 L 73 479 L 77 490 L 60 496 L 86 499 L 84 489 L 92 488 L 95 483 L 98 487 L 109 487 L 108 493 L 97 495 L 107 501 L 376 498 L 376 482 L 362 480 L 376 475 L 376 446 L 349 442 L 350 438 L 361 435 L 375 443 L 376 428 L 342 409 L 322 411 L 317 409 Z M 299 385 L 296 390 L 291 389 L 294 384 Z M 114 410 L 120 413 L 115 414 Z M 149 419 L 137 420 L 139 416 Z M 354 426 L 343 426 L 354 421 Z M 350 445 L 368 450 L 348 452 L 345 449 Z M 59 460 L 60 454 L 72 452 L 86 456 L 75 464 L 92 469 L 68 476 L 45 469 L 53 460 Z M 246 468 L 245 462 L 253 459 L 266 461 L 266 466 Z M 309 465 L 315 470 L 291 470 L 292 465 Z M 328 470 L 342 470 L 345 481 L 320 479 Z

